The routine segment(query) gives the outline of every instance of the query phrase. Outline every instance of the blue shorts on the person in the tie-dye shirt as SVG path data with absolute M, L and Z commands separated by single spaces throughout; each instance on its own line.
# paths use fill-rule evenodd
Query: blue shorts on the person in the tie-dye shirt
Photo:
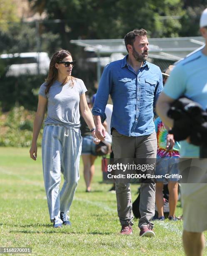
M 179 181 L 179 169 L 178 169 L 179 157 L 163 157 L 158 158 L 156 162 L 155 175 L 162 175 L 157 178 L 157 182 L 165 181 Z

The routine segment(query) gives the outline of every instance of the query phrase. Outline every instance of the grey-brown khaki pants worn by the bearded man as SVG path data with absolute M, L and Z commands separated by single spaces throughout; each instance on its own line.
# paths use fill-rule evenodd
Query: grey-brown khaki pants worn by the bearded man
M 115 129 L 112 131 L 112 144 L 114 158 L 154 158 L 157 155 L 157 136 L 152 133 L 146 136 L 129 137 L 118 133 Z M 130 192 L 130 183 L 116 183 L 117 212 L 121 225 L 133 225 L 132 219 L 132 199 Z M 142 183 L 140 195 L 140 221 L 139 228 L 150 222 L 155 215 L 155 184 Z

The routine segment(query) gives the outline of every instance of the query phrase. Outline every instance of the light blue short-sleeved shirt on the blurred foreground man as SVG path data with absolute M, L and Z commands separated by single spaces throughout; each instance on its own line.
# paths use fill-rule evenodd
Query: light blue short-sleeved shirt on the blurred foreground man
M 186 96 L 207 109 L 207 56 L 202 50 L 180 61 L 170 73 L 163 92 L 172 99 Z M 199 147 L 180 142 L 180 157 L 199 157 Z

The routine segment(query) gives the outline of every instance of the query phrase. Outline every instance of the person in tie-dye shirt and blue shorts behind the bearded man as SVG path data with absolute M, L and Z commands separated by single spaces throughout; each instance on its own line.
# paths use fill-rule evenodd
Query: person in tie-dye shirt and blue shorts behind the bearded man
M 180 157 L 180 144 L 173 139 L 172 134 L 168 134 L 160 117 L 155 120 L 155 131 L 157 133 L 157 163 L 155 175 L 160 175 L 156 179 L 155 202 L 158 212 L 158 220 L 165 220 L 163 185 L 168 182 L 169 190 L 169 220 L 178 220 L 175 217 L 175 210 L 178 199 L 178 158 Z M 175 143 L 175 145 L 174 145 Z M 173 146 L 174 145 L 174 146 Z

